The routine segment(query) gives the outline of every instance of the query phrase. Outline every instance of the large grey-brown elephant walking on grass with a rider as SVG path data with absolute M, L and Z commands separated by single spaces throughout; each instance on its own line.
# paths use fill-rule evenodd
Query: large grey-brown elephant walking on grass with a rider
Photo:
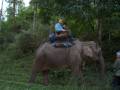
M 52 68 L 70 68 L 72 79 L 81 79 L 85 58 L 90 57 L 99 63 L 101 75 L 104 76 L 104 58 L 101 48 L 93 41 L 74 41 L 75 45 L 70 48 L 55 48 L 50 43 L 41 45 L 36 53 L 33 63 L 32 74 L 29 83 L 35 82 L 38 72 L 43 73 L 43 84 L 48 85 L 48 73 Z

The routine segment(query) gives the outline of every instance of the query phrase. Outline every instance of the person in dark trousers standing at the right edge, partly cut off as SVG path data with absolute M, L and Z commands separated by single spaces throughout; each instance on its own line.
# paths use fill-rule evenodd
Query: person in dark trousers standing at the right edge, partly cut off
M 120 90 L 120 51 L 116 53 L 116 61 L 113 65 L 114 76 L 113 76 L 113 90 Z

